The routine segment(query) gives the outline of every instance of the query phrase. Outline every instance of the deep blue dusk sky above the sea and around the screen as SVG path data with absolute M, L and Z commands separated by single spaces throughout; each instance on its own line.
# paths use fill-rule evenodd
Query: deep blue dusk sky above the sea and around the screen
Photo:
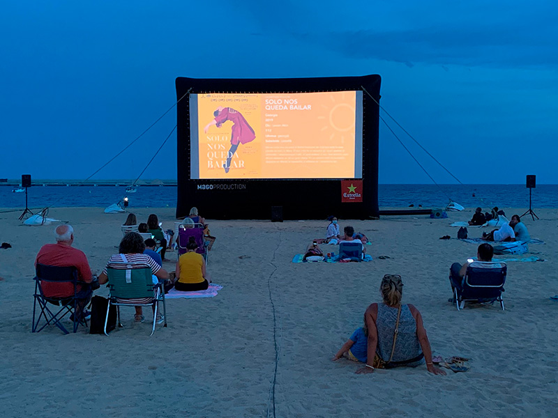
M 529 173 L 558 183 L 554 1 L 13 1 L 0 10 L 0 178 L 88 177 L 174 103 L 179 76 L 379 74 L 382 106 L 463 183 L 524 183 Z M 137 177 L 175 123 L 173 110 L 94 178 Z M 453 183 L 396 132 L 437 182 Z M 379 160 L 380 183 L 430 183 L 383 125 Z M 175 134 L 143 178 L 176 178 Z

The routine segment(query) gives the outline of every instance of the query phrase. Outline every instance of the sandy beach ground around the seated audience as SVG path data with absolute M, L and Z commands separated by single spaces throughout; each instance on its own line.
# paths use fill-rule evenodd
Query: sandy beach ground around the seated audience
M 525 212 L 505 210 L 509 217 Z M 151 314 L 135 325 L 132 308 L 122 310 L 126 327 L 110 336 L 83 327 L 66 336 L 56 327 L 32 334 L 33 261 L 54 242 L 56 224 L 23 226 L 20 212 L 0 213 L 0 242 L 12 245 L 0 249 L 0 416 L 557 417 L 558 302 L 549 296 L 558 294 L 558 214 L 535 211 L 541 220 L 522 220 L 545 242 L 530 246 L 545 261 L 508 263 L 506 311 L 494 304 L 458 312 L 448 302 L 449 265 L 476 255 L 476 245 L 456 240 L 458 228 L 449 224 L 469 220 L 470 208 L 448 219 L 340 219 L 370 238 L 370 263 L 292 263 L 327 222 L 208 219 L 217 237 L 208 272 L 224 287 L 213 298 L 167 300 L 169 325 L 153 336 Z M 156 213 L 163 229 L 174 227 L 174 208 L 130 212 L 138 222 Z M 117 252 L 126 215 L 102 208 L 49 214 L 73 226 L 73 246 L 93 272 Z M 482 231 L 469 228 L 469 236 Z M 167 258 L 176 260 L 176 251 Z M 421 311 L 434 353 L 472 357 L 469 371 L 433 376 L 419 366 L 361 376 L 348 360 L 331 362 L 368 304 L 379 301 L 387 273 L 401 274 L 403 302 Z

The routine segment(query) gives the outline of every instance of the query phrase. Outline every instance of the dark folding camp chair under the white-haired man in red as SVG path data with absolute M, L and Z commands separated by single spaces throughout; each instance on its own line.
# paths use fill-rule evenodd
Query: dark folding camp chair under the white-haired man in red
M 80 281 L 77 279 L 77 269 L 75 267 L 56 267 L 53 265 L 37 264 L 35 280 L 35 293 L 33 295 L 33 323 L 31 325 L 31 332 L 40 332 L 47 325 L 56 325 L 64 334 L 69 334 L 66 327 L 61 323 L 61 320 L 67 315 L 73 315 L 73 332 L 77 332 L 80 325 L 87 327 L 87 321 L 82 318 L 77 318 L 75 309 L 77 307 L 77 284 Z M 43 293 L 42 283 L 45 281 L 56 283 L 71 283 L 73 284 L 74 294 L 69 297 L 46 297 Z M 50 305 L 56 306 L 50 309 Z M 38 309 L 40 314 L 36 318 Z M 54 312 L 56 311 L 56 312 Z M 45 319 L 45 324 L 38 327 L 40 320 Z

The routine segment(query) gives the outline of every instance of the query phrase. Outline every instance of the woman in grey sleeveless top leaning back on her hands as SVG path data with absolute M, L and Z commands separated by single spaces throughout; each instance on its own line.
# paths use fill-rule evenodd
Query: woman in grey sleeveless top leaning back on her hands
M 426 360 L 426 369 L 430 373 L 445 375 L 445 371 L 432 363 L 432 350 L 421 313 L 412 304 L 401 304 L 401 276 L 386 274 L 379 290 L 383 303 L 370 304 L 364 313 L 368 329 L 368 355 L 366 366 L 356 373 L 372 373 L 382 363 L 386 369 L 391 369 L 416 367 Z

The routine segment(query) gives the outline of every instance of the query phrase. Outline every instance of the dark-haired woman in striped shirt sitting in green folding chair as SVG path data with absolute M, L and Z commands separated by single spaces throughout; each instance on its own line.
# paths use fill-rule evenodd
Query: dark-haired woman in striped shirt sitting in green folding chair
M 158 283 L 158 279 L 165 280 L 168 279 L 169 274 L 160 265 L 158 265 L 153 258 L 147 254 L 143 254 L 145 250 L 144 240 L 142 235 L 135 232 L 129 232 L 122 238 L 119 246 L 119 254 L 114 254 L 109 258 L 105 270 L 99 274 L 99 284 L 105 284 L 108 282 L 107 268 L 124 268 L 126 265 L 140 264 L 144 267 L 151 268 L 151 274 L 153 274 L 153 284 Z M 126 260 L 126 261 L 125 261 Z M 153 311 L 155 307 L 153 306 Z M 157 323 L 163 323 L 163 316 L 157 314 Z M 142 307 L 135 307 L 134 320 L 136 323 L 144 322 L 145 318 L 143 316 Z

